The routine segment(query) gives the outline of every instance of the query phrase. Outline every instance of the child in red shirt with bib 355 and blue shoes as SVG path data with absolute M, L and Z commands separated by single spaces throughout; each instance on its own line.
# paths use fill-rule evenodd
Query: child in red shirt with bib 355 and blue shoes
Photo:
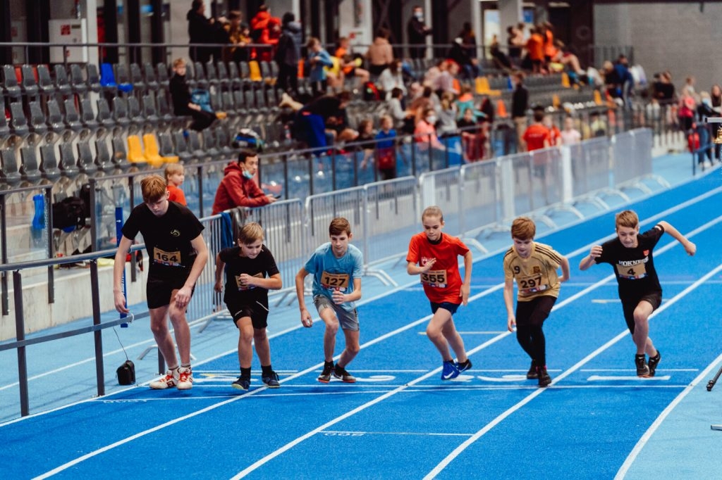
M 442 380 L 451 380 L 471 368 L 464 340 L 456 331 L 451 316 L 461 303 L 468 303 L 471 290 L 471 251 L 455 236 L 444 235 L 444 217 L 437 206 L 428 207 L 421 215 L 424 231 L 412 236 L 406 254 L 406 272 L 420 275 L 424 293 L 431 301 L 433 316 L 426 335 L 443 359 Z M 464 282 L 458 271 L 458 256 L 464 257 Z M 418 265 L 417 265 L 418 264 Z M 454 363 L 449 345 L 456 353 Z

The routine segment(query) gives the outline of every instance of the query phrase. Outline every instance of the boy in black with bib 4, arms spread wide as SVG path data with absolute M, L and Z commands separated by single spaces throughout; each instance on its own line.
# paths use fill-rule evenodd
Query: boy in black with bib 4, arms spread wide
M 665 232 L 679 241 L 687 254 L 694 255 L 697 251 L 695 244 L 666 221 L 640 234 L 639 217 L 632 210 L 625 210 L 617 213 L 617 238 L 591 247 L 579 263 L 580 270 L 587 270 L 597 263 L 614 266 L 627 328 L 637 345 L 635 365 L 639 377 L 653 377 L 661 360 L 649 338 L 648 318 L 662 303 L 662 288 L 654 269 L 652 250 Z M 645 353 L 649 355 L 649 363 Z

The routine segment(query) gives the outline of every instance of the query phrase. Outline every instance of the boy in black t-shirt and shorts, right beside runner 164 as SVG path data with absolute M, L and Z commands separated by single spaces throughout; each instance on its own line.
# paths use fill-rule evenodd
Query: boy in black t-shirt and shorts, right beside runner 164
M 278 374 L 271 368 L 271 347 L 266 336 L 269 314 L 268 290 L 282 287 L 276 260 L 263 244 L 264 229 L 256 222 L 246 223 L 238 233 L 238 246 L 222 249 L 216 256 L 215 290 L 223 290 L 223 301 L 238 327 L 238 363 L 240 377 L 231 386 L 248 390 L 251 386 L 253 347 L 261 362 L 261 381 L 269 388 L 279 388 Z

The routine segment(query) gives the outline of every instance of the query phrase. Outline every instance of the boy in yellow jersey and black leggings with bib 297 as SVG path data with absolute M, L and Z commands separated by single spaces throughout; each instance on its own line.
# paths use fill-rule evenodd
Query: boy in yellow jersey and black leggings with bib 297
M 504 255 L 504 303 L 507 328 L 531 357 L 526 378 L 536 378 L 539 386 L 552 383 L 547 373 L 547 343 L 541 326 L 559 296 L 560 284 L 569 280 L 569 261 L 551 246 L 534 241 L 536 225 L 531 218 L 519 217 L 511 224 L 513 246 Z M 562 269 L 562 276 L 557 269 Z M 514 314 L 514 280 L 518 287 Z

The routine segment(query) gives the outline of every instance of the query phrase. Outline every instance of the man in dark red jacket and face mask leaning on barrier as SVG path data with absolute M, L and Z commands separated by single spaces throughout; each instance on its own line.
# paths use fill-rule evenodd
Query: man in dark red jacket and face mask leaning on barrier
M 258 154 L 244 148 L 238 154 L 238 161 L 231 161 L 223 171 L 224 177 L 213 201 L 213 215 L 235 207 L 261 207 L 274 203 L 276 197 L 266 195 L 253 181 L 256 172 Z

